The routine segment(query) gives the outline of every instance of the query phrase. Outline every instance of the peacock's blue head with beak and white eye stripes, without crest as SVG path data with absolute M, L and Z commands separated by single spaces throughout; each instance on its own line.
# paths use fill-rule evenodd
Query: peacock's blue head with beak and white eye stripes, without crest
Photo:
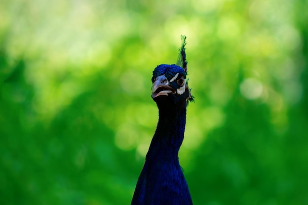
M 153 71 L 152 83 L 152 98 L 156 103 L 167 99 L 174 104 L 193 100 L 186 72 L 178 65 L 158 65 Z

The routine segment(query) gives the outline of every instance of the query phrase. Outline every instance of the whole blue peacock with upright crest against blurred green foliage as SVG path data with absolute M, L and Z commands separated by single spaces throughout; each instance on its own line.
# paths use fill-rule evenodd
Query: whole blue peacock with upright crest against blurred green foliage
M 192 205 L 178 152 L 184 140 L 186 107 L 193 96 L 188 88 L 186 37 L 176 64 L 161 64 L 153 71 L 152 98 L 158 123 L 131 205 Z

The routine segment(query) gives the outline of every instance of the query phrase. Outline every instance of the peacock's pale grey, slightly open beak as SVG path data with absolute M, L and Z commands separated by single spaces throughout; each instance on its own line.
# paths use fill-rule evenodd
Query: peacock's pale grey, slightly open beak
M 168 93 L 176 93 L 176 91 L 169 86 L 168 79 L 165 75 L 158 76 L 152 86 L 152 97 L 155 98 L 160 95 L 168 95 Z

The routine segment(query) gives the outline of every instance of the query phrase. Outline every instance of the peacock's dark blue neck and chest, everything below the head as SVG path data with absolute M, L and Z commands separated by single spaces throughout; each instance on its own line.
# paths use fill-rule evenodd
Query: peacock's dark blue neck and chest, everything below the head
M 131 205 L 192 205 L 178 159 L 184 139 L 186 103 L 158 108 L 157 128 Z

